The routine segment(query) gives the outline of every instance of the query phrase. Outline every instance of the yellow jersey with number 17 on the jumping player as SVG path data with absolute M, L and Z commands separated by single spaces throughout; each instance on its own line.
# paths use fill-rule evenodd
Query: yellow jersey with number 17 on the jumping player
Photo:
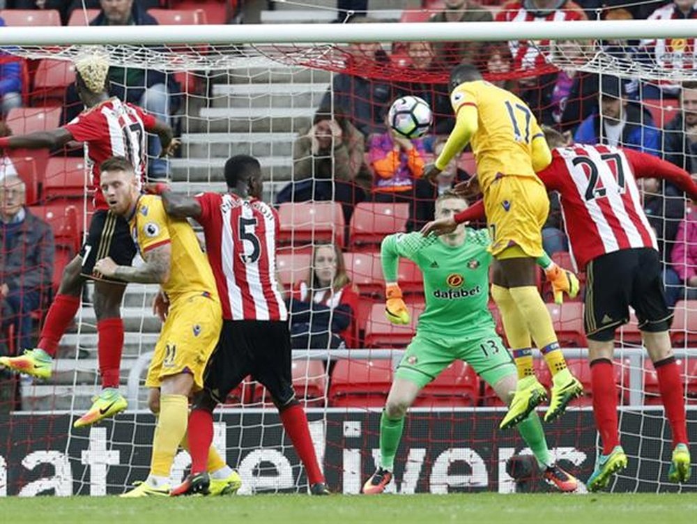
M 477 108 L 477 131 L 470 139 L 482 192 L 498 176 L 537 178 L 533 169 L 533 140 L 544 134 L 533 111 L 510 91 L 486 82 L 464 82 L 450 93 L 452 109 Z

